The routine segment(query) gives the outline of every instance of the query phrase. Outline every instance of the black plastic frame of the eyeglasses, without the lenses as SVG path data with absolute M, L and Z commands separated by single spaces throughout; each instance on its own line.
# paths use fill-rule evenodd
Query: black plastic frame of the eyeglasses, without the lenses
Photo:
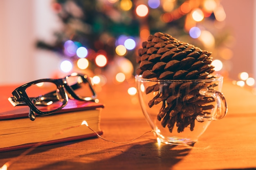
M 67 84 L 67 78 L 72 77 L 72 76 L 73 77 L 79 76 L 82 78 L 84 83 L 89 84 L 90 90 L 92 91 L 91 97 L 82 97 L 82 96 L 76 95 L 76 93 L 73 91 L 73 89 L 75 90 L 77 88 L 76 87 L 77 84 L 74 84 L 71 87 Z M 61 107 L 56 108 L 54 110 L 50 110 L 50 111 L 41 111 L 33 104 L 32 100 L 36 99 L 38 97 L 29 97 L 26 93 L 26 89 L 34 84 L 38 84 L 38 83 L 42 83 L 42 82 L 51 82 L 56 85 L 57 89 L 59 90 L 58 95 L 61 95 L 61 98 L 63 99 L 63 102 L 62 102 L 63 104 Z M 66 91 L 67 91 L 67 93 L 66 93 Z M 45 95 L 41 95 L 39 97 L 51 97 L 54 95 L 54 93 L 56 93 L 56 91 L 47 93 Z M 11 104 L 14 107 L 15 106 L 29 106 L 29 108 L 30 108 L 29 118 L 31 120 L 35 120 L 35 117 L 36 117 L 35 113 L 37 113 L 38 115 L 49 115 L 51 113 L 56 112 L 57 110 L 60 110 L 61 108 L 63 108 L 64 106 L 67 105 L 69 96 L 73 97 L 74 99 L 82 100 L 82 101 L 94 101 L 97 96 L 94 89 L 92 88 L 92 84 L 90 82 L 88 75 L 84 75 L 84 74 L 80 74 L 80 73 L 72 73 L 71 75 L 67 75 L 66 77 L 61 78 L 61 79 L 38 79 L 38 80 L 35 80 L 32 82 L 29 82 L 27 84 L 24 84 L 22 86 L 19 86 L 12 92 L 12 95 L 13 95 L 13 97 L 9 97 L 8 99 L 9 99 L 9 102 L 11 102 Z

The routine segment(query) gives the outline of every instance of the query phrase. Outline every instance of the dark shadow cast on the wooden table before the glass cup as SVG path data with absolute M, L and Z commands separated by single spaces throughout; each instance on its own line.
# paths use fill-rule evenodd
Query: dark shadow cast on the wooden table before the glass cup
M 170 146 L 150 141 L 146 144 L 135 144 L 123 151 L 122 146 L 80 155 L 37 168 L 76 169 L 76 170 L 161 170 L 170 169 L 192 149 L 191 146 Z M 102 159 L 108 157 L 107 159 Z M 100 160 L 100 161 L 97 161 Z

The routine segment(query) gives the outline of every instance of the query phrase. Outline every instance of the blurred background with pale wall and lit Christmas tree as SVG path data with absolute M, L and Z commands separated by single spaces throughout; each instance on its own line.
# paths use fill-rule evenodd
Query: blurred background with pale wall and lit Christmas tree
M 256 78 L 255 0 L 0 0 L 0 85 L 87 73 L 95 84 L 135 75 L 148 35 L 211 51 L 239 86 Z

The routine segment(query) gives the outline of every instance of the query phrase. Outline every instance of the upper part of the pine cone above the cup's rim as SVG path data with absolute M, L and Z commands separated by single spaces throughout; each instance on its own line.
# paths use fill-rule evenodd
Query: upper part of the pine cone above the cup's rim
M 138 50 L 136 73 L 143 78 L 209 79 L 213 73 L 211 53 L 181 42 L 171 35 L 155 33 Z

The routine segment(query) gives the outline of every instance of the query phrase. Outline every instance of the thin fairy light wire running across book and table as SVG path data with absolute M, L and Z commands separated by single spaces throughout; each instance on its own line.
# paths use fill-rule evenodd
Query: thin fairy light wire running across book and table
M 63 132 L 65 132 L 65 130 L 69 130 L 71 128 L 78 128 L 80 126 L 83 126 L 85 125 L 87 128 L 89 128 L 90 130 L 92 130 L 92 132 L 94 132 L 100 139 L 103 139 L 104 141 L 108 141 L 108 142 L 113 142 L 115 144 L 128 144 L 128 143 L 131 143 L 132 141 L 135 141 L 136 139 L 139 139 L 141 138 L 142 136 L 146 135 L 147 133 L 150 133 L 150 132 L 154 132 L 153 130 L 150 130 L 150 131 L 147 131 L 145 133 L 143 133 L 142 135 L 140 135 L 139 137 L 136 137 L 134 139 L 132 139 L 131 141 L 126 141 L 126 142 L 116 142 L 116 141 L 112 141 L 112 140 L 108 140 L 108 139 L 105 139 L 103 137 L 101 137 L 101 135 L 99 135 L 98 132 L 96 132 L 95 130 L 93 130 L 92 128 L 90 128 L 90 126 L 88 125 L 87 121 L 83 121 L 81 123 L 81 125 L 78 125 L 78 126 L 70 126 L 70 127 L 67 127 L 67 128 L 63 128 L 62 130 L 60 130 L 58 133 L 52 135 L 52 137 L 50 139 L 52 139 L 53 137 L 55 137 L 56 135 L 60 135 L 62 134 Z M 50 139 L 48 141 L 50 141 Z M 32 152 L 34 149 L 36 149 L 38 146 L 41 146 L 43 145 L 45 142 L 47 141 L 43 141 L 43 142 L 38 142 L 36 143 L 33 147 L 25 150 L 24 152 L 22 152 L 18 157 L 15 157 L 13 159 L 11 159 L 10 161 L 7 161 L 6 163 L 4 163 L 4 165 L 2 167 L 0 167 L 0 170 L 7 170 L 13 163 L 17 162 L 18 160 L 20 160 L 22 157 L 24 157 L 25 155 L 29 154 L 30 152 Z

